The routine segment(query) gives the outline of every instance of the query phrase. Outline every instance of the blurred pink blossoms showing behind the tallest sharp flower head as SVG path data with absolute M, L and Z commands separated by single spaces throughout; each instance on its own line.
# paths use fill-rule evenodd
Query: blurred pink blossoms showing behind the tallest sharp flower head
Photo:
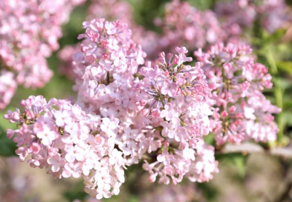
M 143 50 L 147 53 L 147 58 L 157 55 L 158 35 L 155 32 L 145 30 L 142 26 L 135 23 L 132 16 L 132 8 L 127 1 L 124 0 L 92 0 L 88 9 L 87 19 L 92 18 L 105 18 L 107 20 L 120 20 L 127 23 L 128 27 L 132 30 L 132 39 L 140 44 Z M 71 80 L 78 77 L 75 71 L 74 54 L 80 49 L 80 44 L 68 45 L 63 48 L 58 57 L 62 61 L 60 73 L 66 75 Z

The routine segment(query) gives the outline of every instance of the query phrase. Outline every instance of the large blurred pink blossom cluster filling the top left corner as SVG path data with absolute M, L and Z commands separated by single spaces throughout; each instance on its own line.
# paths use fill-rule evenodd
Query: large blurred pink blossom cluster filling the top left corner
M 0 109 L 9 104 L 17 85 L 40 88 L 50 80 L 46 58 L 59 48 L 60 26 L 83 1 L 0 1 Z

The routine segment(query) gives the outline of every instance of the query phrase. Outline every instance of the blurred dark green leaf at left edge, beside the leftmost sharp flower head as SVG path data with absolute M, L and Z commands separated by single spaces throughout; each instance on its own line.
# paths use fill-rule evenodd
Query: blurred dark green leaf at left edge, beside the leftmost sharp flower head
M 16 144 L 7 138 L 4 129 L 0 128 L 0 155 L 1 156 L 15 156 Z

